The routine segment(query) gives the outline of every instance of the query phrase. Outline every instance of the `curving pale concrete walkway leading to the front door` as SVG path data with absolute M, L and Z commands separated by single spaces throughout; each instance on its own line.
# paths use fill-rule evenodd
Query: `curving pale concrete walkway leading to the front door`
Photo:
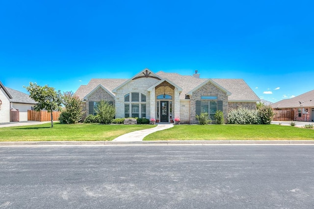
M 172 128 L 173 124 L 158 124 L 154 128 L 150 129 L 144 129 L 144 130 L 139 130 L 139 131 L 134 131 L 131 133 L 127 133 L 125 135 L 122 135 L 120 137 L 117 137 L 116 139 L 113 139 L 112 141 L 142 141 L 144 137 L 147 135 L 154 133 L 156 131 L 161 131 L 164 129 Z

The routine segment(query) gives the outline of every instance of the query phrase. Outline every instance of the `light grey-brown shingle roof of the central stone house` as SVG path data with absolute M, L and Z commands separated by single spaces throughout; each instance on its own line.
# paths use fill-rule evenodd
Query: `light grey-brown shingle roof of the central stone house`
M 205 78 L 195 78 L 192 75 L 180 75 L 178 73 L 168 73 L 159 71 L 156 73 L 161 78 L 168 79 L 182 88 L 180 99 L 185 99 L 185 95 L 198 87 L 206 80 Z M 75 95 L 83 99 L 88 93 L 93 91 L 98 85 L 103 85 L 108 91 L 112 90 L 128 81 L 129 79 L 91 79 L 87 85 L 81 85 Z M 243 79 L 211 79 L 226 89 L 231 95 L 229 101 L 260 101 L 260 98 L 253 90 L 245 83 Z M 114 93 L 113 93 L 114 94 Z

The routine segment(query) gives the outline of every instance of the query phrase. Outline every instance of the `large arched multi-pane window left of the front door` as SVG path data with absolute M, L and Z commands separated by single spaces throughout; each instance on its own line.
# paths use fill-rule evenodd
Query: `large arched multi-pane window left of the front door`
M 125 117 L 146 117 L 146 95 L 132 92 L 124 96 Z

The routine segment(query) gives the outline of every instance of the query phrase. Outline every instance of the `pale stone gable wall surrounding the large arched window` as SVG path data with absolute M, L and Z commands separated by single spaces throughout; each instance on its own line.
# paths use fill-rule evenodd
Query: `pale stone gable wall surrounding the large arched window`
M 138 78 L 131 80 L 126 85 L 119 88 L 116 92 L 116 118 L 124 117 L 124 96 L 127 93 L 143 93 L 146 95 L 146 118 L 151 118 L 151 94 L 147 91 L 148 88 L 159 82 L 155 78 Z M 132 103 L 132 102 L 131 102 Z M 134 102 L 139 103 L 139 102 Z

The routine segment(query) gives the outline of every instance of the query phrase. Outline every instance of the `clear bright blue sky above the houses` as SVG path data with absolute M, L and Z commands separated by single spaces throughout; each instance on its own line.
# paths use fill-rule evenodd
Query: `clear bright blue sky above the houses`
M 276 102 L 314 89 L 313 0 L 0 1 L 0 81 L 75 92 L 140 70 L 243 78 Z

